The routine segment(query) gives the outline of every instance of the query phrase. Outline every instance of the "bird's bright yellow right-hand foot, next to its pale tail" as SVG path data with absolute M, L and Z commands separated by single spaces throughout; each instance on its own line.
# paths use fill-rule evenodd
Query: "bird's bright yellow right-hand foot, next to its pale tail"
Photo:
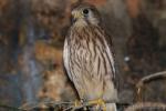
M 105 105 L 105 101 L 103 99 L 97 99 L 97 100 L 91 100 L 89 101 L 89 104 L 91 105 L 100 105 L 102 107 L 103 111 L 106 111 L 106 105 Z

